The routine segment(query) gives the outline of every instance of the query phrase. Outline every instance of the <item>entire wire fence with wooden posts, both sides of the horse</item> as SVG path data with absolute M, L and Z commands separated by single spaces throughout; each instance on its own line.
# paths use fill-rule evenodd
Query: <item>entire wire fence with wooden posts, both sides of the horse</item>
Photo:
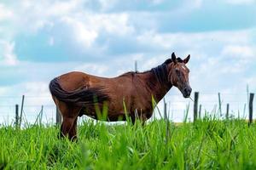
M 242 117 L 248 118 L 249 124 L 253 122 L 254 94 L 203 94 L 195 92 L 192 97 L 194 98 L 191 99 L 193 101 L 183 99 L 181 94 L 167 94 L 166 99 L 160 101 L 154 118 L 165 117 L 174 122 L 181 122 L 187 114 L 190 120 L 195 121 L 200 119 L 206 111 L 212 110 L 212 112 L 218 112 L 219 117 L 226 119 L 241 117 L 241 112 L 243 112 Z M 224 104 L 224 100 L 228 102 Z M 190 107 L 191 102 L 194 103 L 193 107 Z M 18 105 L 19 103 L 20 105 Z M 183 115 L 181 115 L 182 112 Z M 15 124 L 15 126 L 20 127 L 22 123 L 35 122 L 61 123 L 61 114 L 50 96 L 0 96 L 0 124 Z

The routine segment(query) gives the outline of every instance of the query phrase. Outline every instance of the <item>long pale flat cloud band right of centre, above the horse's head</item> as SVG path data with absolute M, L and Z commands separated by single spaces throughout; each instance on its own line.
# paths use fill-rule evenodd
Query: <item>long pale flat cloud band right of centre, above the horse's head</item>
M 207 44 L 247 44 L 251 39 L 251 31 L 207 31 L 158 33 L 147 31 L 137 37 L 137 41 L 156 48 L 202 48 Z M 207 42 L 207 43 L 205 43 Z

